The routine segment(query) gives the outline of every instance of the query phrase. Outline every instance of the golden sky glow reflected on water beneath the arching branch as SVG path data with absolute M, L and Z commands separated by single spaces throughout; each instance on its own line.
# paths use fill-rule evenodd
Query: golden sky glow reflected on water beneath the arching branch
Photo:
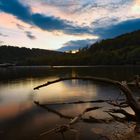
M 36 100 L 46 103 L 55 103 L 95 99 L 97 87 L 91 83 L 86 83 L 85 85 L 84 83 L 86 82 L 81 83 L 74 80 L 53 84 L 52 86 L 37 91 Z

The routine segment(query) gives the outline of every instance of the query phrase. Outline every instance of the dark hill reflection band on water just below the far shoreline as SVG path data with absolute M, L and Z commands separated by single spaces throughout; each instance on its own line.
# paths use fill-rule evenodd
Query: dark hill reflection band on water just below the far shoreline
M 0 81 L 25 78 L 43 78 L 44 76 L 99 76 L 116 80 L 129 80 L 134 75 L 140 75 L 140 66 L 98 66 L 98 67 L 13 67 L 0 68 Z

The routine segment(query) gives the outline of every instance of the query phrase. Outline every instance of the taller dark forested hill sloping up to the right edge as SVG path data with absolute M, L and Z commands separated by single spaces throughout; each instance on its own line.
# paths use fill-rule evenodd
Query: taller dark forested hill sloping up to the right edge
M 89 65 L 140 64 L 140 30 L 102 40 L 82 52 Z

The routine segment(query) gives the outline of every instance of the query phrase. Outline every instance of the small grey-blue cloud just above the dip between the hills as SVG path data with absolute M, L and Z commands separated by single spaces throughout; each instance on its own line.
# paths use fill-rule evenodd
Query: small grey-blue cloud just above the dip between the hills
M 69 41 L 59 48 L 58 51 L 69 51 L 69 50 L 79 50 L 80 48 L 89 47 L 91 44 L 95 43 L 95 39 L 85 39 Z

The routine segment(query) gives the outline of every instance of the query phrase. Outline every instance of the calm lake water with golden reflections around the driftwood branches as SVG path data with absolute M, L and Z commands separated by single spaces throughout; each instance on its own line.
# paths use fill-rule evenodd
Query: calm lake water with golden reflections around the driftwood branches
M 40 137 L 44 131 L 67 124 L 69 119 L 34 104 L 54 104 L 73 101 L 97 99 L 116 99 L 120 90 L 110 85 L 91 81 L 68 80 L 34 91 L 33 88 L 47 81 L 68 76 L 99 76 L 115 80 L 131 80 L 140 75 L 140 67 L 14 67 L 0 68 L 0 139 L 2 140 L 61 140 L 59 133 L 49 133 Z M 137 93 L 136 93 L 136 96 Z M 107 104 L 69 104 L 49 105 L 68 116 L 77 116 L 85 108 L 104 106 L 103 109 L 87 113 L 84 117 L 108 118 L 103 112 L 110 108 Z M 130 109 L 128 109 L 132 112 Z M 116 126 L 116 124 L 115 124 Z M 113 125 L 78 122 L 74 129 L 79 133 L 79 139 L 105 139 L 101 134 L 110 135 Z M 119 126 L 120 127 L 120 124 Z M 124 127 L 124 126 L 123 126 Z M 110 128 L 110 129 L 109 129 Z M 112 129 L 113 128 L 113 129 Z M 75 139 L 77 133 L 66 132 L 65 139 Z

